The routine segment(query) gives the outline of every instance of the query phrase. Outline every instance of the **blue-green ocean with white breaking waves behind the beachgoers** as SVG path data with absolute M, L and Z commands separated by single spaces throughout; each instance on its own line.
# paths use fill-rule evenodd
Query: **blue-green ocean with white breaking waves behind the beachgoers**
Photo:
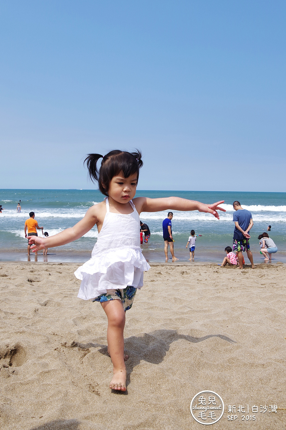
M 252 212 L 254 226 L 250 231 L 250 248 L 254 262 L 263 262 L 259 254 L 258 235 L 267 231 L 271 224 L 271 237 L 278 247 L 273 255 L 273 263 L 286 262 L 286 193 L 254 193 L 228 191 L 144 191 L 137 190 L 136 197 L 150 198 L 177 196 L 185 199 L 214 203 L 225 200 L 220 212 L 220 220 L 210 214 L 198 211 L 179 212 L 172 210 L 172 230 L 175 240 L 174 249 L 180 262 L 188 262 L 189 249 L 186 244 L 190 230 L 195 230 L 198 237 L 195 248 L 195 261 L 221 262 L 225 256 L 226 246 L 232 246 L 234 212 L 232 203 L 239 200 L 243 208 Z M 21 200 L 21 213 L 16 213 Z M 98 190 L 0 190 L 0 204 L 4 210 L 0 214 L 0 261 L 27 261 L 27 240 L 24 237 L 24 223 L 29 212 L 35 212 L 39 226 L 48 231 L 49 236 L 72 227 L 84 215 L 87 209 L 103 200 Z M 148 224 L 151 237 L 148 244 L 142 245 L 142 252 L 147 261 L 164 261 L 164 242 L 162 221 L 167 211 L 141 213 L 140 219 Z M 42 234 L 39 230 L 38 234 Z M 82 238 L 58 248 L 49 249 L 46 261 L 86 261 L 97 240 L 97 227 L 93 227 Z M 246 254 L 246 253 L 245 253 Z M 31 261 L 35 256 L 31 256 Z M 247 256 L 244 256 L 246 263 Z M 38 261 L 43 261 L 43 255 Z M 191 264 L 191 263 L 190 263 Z

